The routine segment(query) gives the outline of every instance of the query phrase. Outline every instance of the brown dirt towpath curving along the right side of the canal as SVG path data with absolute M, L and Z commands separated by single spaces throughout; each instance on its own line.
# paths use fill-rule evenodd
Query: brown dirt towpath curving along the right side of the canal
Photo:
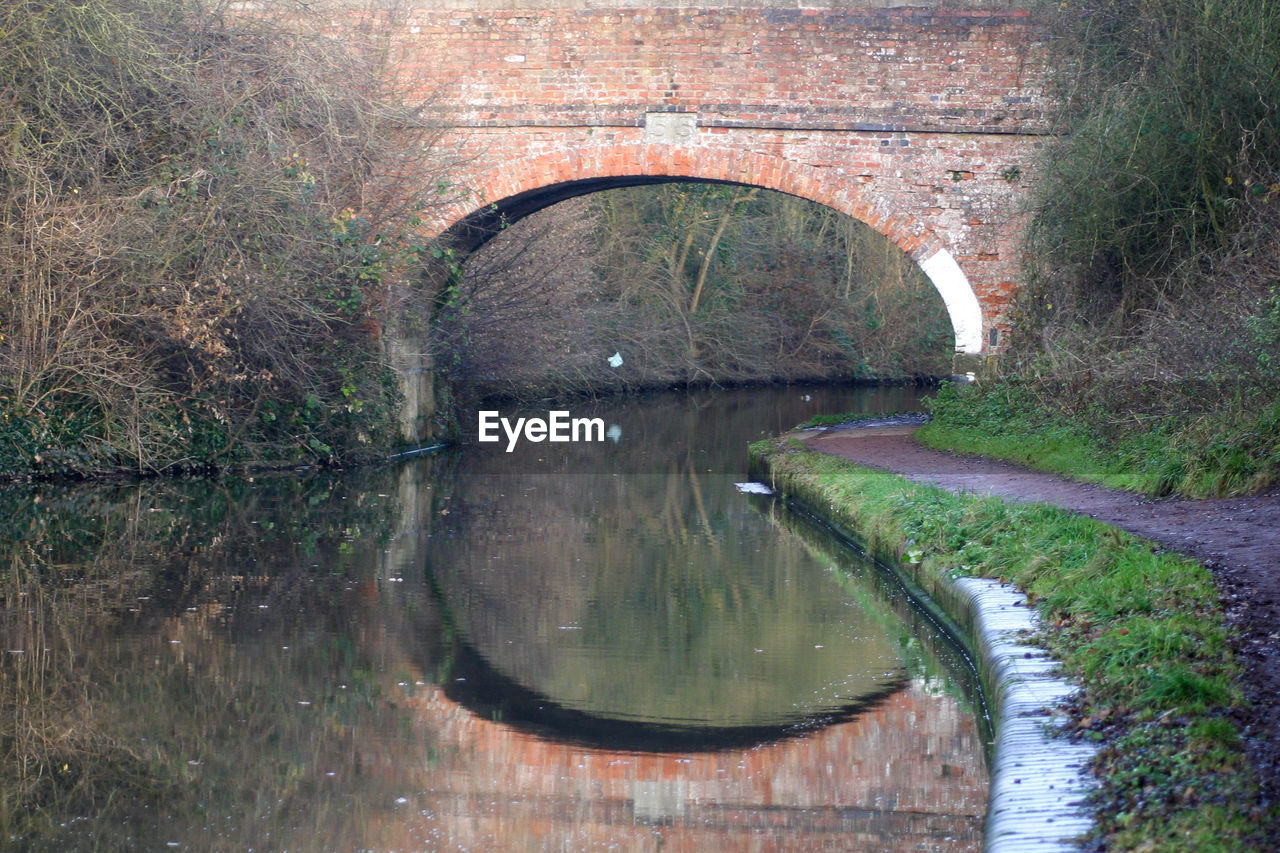
M 988 459 L 929 450 L 915 425 L 809 433 L 813 450 L 933 483 L 951 492 L 1053 503 L 1204 561 L 1213 571 L 1247 669 L 1253 707 L 1245 736 L 1265 795 L 1280 797 L 1280 489 L 1213 501 L 1152 500 Z

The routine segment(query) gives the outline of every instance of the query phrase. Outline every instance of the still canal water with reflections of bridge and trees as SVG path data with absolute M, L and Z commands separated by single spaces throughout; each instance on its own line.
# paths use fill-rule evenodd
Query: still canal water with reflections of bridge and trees
M 972 669 L 737 485 L 750 441 L 916 405 L 659 394 L 566 406 L 599 442 L 0 492 L 0 848 L 980 849 Z

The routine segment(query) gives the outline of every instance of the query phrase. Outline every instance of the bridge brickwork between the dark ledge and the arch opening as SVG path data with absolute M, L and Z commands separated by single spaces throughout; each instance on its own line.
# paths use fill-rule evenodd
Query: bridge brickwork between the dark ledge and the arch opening
M 950 251 L 984 309 L 986 330 L 1002 324 L 1018 277 L 1018 210 L 1029 172 L 1023 164 L 1037 137 L 948 136 L 945 145 L 937 136 L 910 133 L 796 140 L 699 129 L 698 137 L 696 145 L 669 146 L 645 143 L 637 131 L 559 129 L 518 140 L 506 131 L 468 131 L 465 145 L 503 156 L 472 179 L 476 204 L 443 215 L 442 227 L 490 202 L 518 218 L 575 195 L 573 182 L 588 178 L 595 181 L 581 188 L 626 186 L 637 175 L 749 183 L 855 216 L 916 260 Z M 1020 169 L 1016 182 L 1001 177 L 1010 169 Z M 598 182 L 605 178 L 614 182 Z

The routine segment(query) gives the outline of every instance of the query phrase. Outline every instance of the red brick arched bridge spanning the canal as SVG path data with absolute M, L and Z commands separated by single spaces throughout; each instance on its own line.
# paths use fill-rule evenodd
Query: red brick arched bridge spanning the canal
M 640 183 L 777 190 L 899 245 L 941 293 L 959 362 L 989 355 L 1047 132 L 1041 22 L 1018 8 L 1028 0 L 813 1 L 374 13 L 401 85 L 429 99 L 447 128 L 436 145 L 461 164 L 467 201 L 439 211 L 435 233 L 467 250 L 502 218 Z

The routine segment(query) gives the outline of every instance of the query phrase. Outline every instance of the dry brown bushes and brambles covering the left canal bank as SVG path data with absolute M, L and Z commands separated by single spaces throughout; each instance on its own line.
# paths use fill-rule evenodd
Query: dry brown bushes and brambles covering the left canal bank
M 389 429 L 370 332 L 424 200 L 384 188 L 428 140 L 376 44 L 262 9 L 0 3 L 4 473 L 325 460 Z

